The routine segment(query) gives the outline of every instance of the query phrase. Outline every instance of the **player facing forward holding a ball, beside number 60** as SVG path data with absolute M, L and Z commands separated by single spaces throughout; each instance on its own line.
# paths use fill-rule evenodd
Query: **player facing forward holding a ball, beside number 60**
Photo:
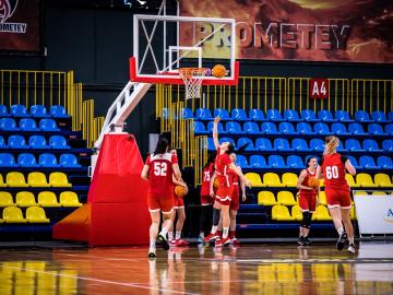
M 307 168 L 300 172 L 296 187 L 299 189 L 299 206 L 303 219 L 300 223 L 299 239 L 300 246 L 310 245 L 309 239 L 310 224 L 312 213 L 315 211 L 317 197 L 319 196 L 319 188 L 309 187 L 309 179 L 317 176 L 318 161 L 315 156 L 310 156 L 307 161 Z

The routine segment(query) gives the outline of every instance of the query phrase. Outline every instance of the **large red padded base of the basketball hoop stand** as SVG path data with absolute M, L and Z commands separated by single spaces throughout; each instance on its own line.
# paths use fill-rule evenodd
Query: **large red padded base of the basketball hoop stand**
M 85 217 L 71 213 L 53 226 L 53 238 L 84 240 L 92 246 L 147 245 L 151 221 L 142 167 L 133 135 L 106 134 L 88 190 Z M 83 235 L 85 238 L 75 233 L 75 224 L 88 233 Z

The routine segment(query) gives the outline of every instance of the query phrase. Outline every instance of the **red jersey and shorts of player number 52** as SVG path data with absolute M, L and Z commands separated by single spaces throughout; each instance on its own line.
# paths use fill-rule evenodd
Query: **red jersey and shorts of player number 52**
M 150 212 L 170 213 L 174 208 L 172 164 L 176 155 L 170 153 L 148 155 L 145 165 L 150 166 L 147 205 Z

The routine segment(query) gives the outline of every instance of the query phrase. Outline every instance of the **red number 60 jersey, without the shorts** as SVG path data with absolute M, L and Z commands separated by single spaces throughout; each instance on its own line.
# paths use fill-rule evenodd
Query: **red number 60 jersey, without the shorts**
M 347 180 L 345 179 L 345 162 L 347 157 L 338 153 L 325 155 L 321 158 L 324 186 L 326 189 L 349 190 Z

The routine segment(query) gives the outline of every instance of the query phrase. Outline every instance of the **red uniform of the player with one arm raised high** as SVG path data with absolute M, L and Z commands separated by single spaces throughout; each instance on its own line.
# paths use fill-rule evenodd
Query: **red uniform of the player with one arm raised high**
M 234 186 L 229 179 L 229 167 L 228 165 L 231 163 L 229 155 L 224 153 L 219 154 L 219 149 L 217 150 L 217 156 L 215 160 L 215 172 L 218 178 L 218 189 L 216 192 L 216 200 L 223 205 L 229 205 Z

